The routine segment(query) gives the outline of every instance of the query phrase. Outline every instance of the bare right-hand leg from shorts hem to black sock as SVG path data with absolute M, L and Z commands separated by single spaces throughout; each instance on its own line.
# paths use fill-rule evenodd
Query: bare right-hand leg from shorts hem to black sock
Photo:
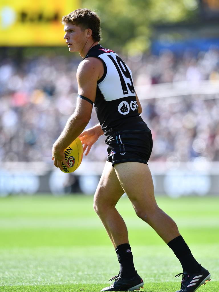
M 161 210 L 154 198 L 154 185 L 147 164 L 124 162 L 114 165 L 121 187 L 132 202 L 136 214 L 168 243 L 180 235 L 175 222 Z

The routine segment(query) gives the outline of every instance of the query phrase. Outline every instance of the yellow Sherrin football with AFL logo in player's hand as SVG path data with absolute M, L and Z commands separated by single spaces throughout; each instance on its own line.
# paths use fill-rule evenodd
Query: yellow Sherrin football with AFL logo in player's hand
M 75 171 L 81 164 L 83 158 L 83 146 L 81 140 L 76 138 L 64 151 L 65 161 L 70 166 L 68 168 L 62 163 L 64 173 L 70 173 Z

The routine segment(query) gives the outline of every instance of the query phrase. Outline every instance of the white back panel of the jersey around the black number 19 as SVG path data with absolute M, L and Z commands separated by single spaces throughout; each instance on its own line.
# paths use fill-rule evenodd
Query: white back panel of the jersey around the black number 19
M 114 65 L 114 62 L 112 61 L 112 59 L 110 59 L 110 56 L 112 56 L 111 58 L 114 59 L 114 62 L 117 63 L 118 65 L 118 69 L 120 70 L 122 77 L 125 81 L 126 87 L 127 87 L 127 94 L 124 94 L 122 85 L 121 85 L 121 81 L 120 81 L 120 77 L 119 77 L 119 72 L 116 68 L 116 66 Z M 131 92 L 128 84 L 131 84 L 132 81 L 130 81 L 129 78 L 127 78 L 123 72 L 120 69 L 120 66 L 122 66 L 123 70 L 125 71 L 125 67 L 122 63 L 120 63 L 120 66 L 117 62 L 117 58 L 116 56 L 118 56 L 116 53 L 110 52 L 110 53 L 106 53 L 106 54 L 101 54 L 98 57 L 101 58 L 107 67 L 107 74 L 106 77 L 103 79 L 103 81 L 101 81 L 98 84 L 98 87 L 102 93 L 102 95 L 104 96 L 106 101 L 111 101 L 111 100 L 116 100 L 119 98 L 124 98 L 124 97 L 128 97 L 128 96 L 135 96 L 135 92 Z M 119 57 L 119 56 L 118 56 Z M 132 79 L 132 73 L 131 70 L 128 68 L 128 66 L 126 65 L 131 79 Z

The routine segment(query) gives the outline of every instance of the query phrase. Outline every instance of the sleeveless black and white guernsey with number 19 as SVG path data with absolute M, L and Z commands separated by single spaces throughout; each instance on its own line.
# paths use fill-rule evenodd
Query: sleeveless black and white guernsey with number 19
M 99 44 L 88 51 L 85 58 L 89 57 L 99 58 L 104 65 L 94 107 L 107 140 L 116 133 L 150 132 L 138 113 L 132 73 L 125 62 Z

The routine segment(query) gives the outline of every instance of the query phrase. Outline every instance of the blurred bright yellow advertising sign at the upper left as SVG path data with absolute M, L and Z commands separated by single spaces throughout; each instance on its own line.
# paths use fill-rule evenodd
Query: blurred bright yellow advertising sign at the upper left
M 80 0 L 1 0 L 0 46 L 65 46 L 63 15 Z

